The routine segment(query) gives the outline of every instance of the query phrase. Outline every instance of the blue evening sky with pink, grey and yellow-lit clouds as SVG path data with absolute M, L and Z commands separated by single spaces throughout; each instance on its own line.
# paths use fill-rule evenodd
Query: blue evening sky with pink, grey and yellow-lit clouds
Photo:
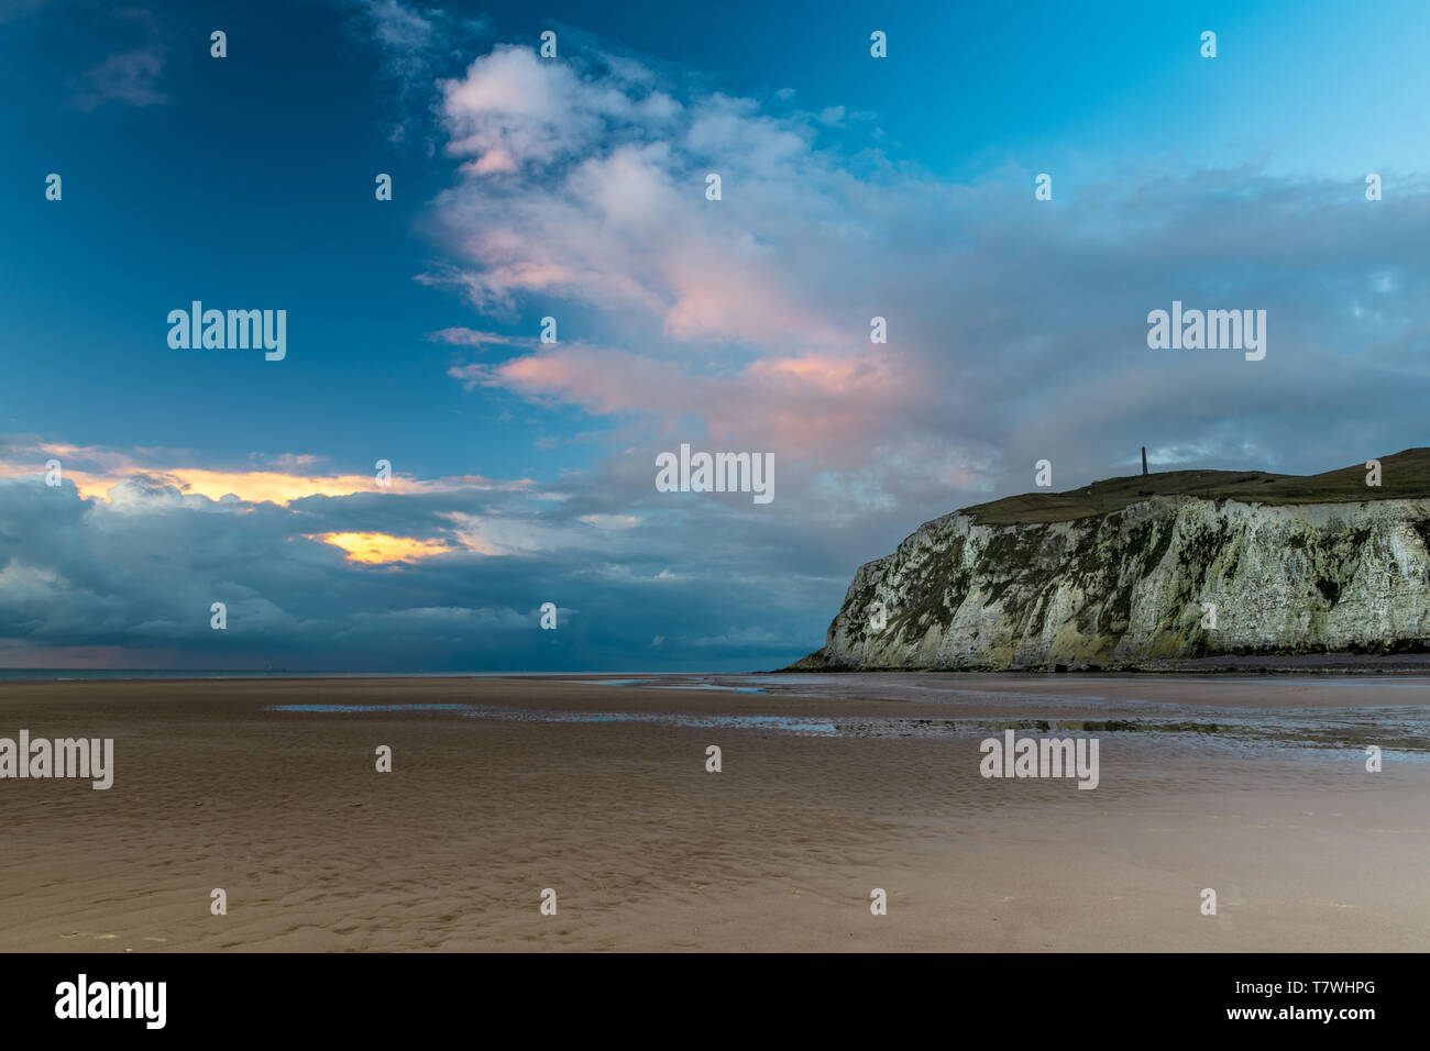
M 776 668 L 1040 459 L 1430 445 L 1427 29 L 0 0 L 0 666 Z M 285 310 L 282 360 L 172 346 L 194 300 Z M 1151 349 L 1173 302 L 1266 357 Z M 664 492 L 682 445 L 774 499 Z

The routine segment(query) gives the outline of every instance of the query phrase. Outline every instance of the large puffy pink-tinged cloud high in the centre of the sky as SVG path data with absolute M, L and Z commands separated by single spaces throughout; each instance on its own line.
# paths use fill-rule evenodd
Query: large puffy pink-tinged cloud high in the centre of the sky
M 480 312 L 541 303 L 562 325 L 556 347 L 449 375 L 622 418 L 626 445 L 669 442 L 694 418 L 712 440 L 807 459 L 808 476 L 904 462 L 932 478 L 928 450 L 950 446 L 944 378 L 915 326 L 874 345 L 869 319 L 928 272 L 891 256 L 891 227 L 927 236 L 947 190 L 891 176 L 872 192 L 815 149 L 814 114 L 681 103 L 679 86 L 654 89 L 665 73 L 583 61 L 499 49 L 443 86 L 448 150 L 472 163 L 435 202 L 456 257 L 429 280 Z M 562 302 L 583 307 L 581 343 Z

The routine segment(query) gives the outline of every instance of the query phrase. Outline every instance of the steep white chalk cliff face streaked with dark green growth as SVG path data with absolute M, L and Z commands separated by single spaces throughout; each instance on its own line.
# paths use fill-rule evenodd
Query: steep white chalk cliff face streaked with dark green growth
M 822 656 L 1017 668 L 1430 646 L 1427 543 L 1430 500 L 1154 496 L 1014 526 L 947 515 L 859 568 Z

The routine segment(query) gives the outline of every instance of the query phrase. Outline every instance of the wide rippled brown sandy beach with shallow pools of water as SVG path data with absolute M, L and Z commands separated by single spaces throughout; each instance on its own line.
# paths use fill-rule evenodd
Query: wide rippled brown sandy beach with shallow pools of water
M 1419 951 L 1427 704 L 1353 676 L 4 682 L 0 736 L 113 738 L 114 784 L 0 781 L 0 949 Z M 981 776 L 1004 726 L 1097 736 L 1097 789 Z

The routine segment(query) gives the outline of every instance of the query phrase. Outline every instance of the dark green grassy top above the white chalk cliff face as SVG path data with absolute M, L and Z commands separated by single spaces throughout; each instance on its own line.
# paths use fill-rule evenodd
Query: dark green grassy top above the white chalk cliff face
M 1107 515 L 1148 496 L 1200 496 L 1250 503 L 1348 503 L 1430 498 L 1430 449 L 1381 456 L 1381 485 L 1366 485 L 1366 465 L 1323 475 L 1271 475 L 1266 470 L 1165 470 L 1108 478 L 1065 493 L 1022 493 L 964 508 L 980 525 L 1071 522 Z

